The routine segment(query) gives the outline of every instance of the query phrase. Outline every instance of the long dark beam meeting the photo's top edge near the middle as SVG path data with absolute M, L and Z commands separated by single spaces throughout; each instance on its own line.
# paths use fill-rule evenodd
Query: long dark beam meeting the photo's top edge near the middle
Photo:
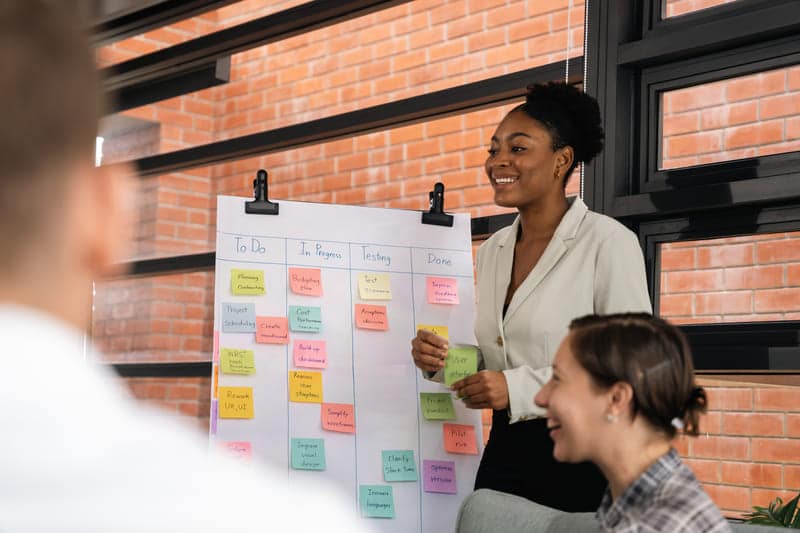
M 107 91 L 194 70 L 209 61 L 399 5 L 409 0 L 314 0 L 107 67 Z

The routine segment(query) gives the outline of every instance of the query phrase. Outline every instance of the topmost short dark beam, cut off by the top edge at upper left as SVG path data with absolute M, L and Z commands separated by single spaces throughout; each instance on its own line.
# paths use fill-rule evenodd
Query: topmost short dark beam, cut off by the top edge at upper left
M 103 46 L 172 22 L 200 15 L 238 0 L 160 0 L 123 12 L 109 13 L 89 28 L 92 42 Z

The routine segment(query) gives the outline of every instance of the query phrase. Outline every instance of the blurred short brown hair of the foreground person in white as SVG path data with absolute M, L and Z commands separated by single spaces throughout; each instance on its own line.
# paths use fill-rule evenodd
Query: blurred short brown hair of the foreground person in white
M 92 164 L 103 102 L 78 8 L 0 2 L 0 267 L 54 227 L 65 169 Z

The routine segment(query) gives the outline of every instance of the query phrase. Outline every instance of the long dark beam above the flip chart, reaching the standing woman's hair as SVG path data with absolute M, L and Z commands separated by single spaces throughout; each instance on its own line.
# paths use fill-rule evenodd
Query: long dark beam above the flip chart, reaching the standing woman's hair
M 521 98 L 531 83 L 561 79 L 565 66 L 561 61 L 534 67 L 341 115 L 145 157 L 136 160 L 136 164 L 141 176 L 157 176 L 473 111 Z M 571 81 L 580 81 L 583 58 L 571 59 L 569 71 L 574 73 Z

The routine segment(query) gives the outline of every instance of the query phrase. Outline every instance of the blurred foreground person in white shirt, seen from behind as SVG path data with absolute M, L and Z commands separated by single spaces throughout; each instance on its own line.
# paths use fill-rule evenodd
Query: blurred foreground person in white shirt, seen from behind
M 210 454 L 83 360 L 124 258 L 132 178 L 95 168 L 101 89 L 77 6 L 0 2 L 0 531 L 365 531 L 353 498 Z

